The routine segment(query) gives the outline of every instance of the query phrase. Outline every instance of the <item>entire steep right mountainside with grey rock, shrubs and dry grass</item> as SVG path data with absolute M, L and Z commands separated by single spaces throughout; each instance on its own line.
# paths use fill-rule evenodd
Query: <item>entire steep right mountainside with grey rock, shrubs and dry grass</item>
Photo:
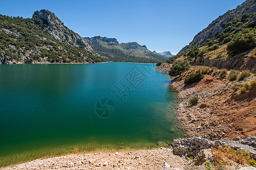
M 168 63 L 187 59 L 191 65 L 256 72 L 256 1 L 247 0 L 197 33 Z

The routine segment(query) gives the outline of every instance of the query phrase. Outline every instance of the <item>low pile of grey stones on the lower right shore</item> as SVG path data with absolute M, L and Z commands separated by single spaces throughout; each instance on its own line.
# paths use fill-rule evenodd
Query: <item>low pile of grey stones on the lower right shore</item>
M 256 148 L 253 147 L 256 142 L 256 137 L 248 136 L 245 140 L 241 141 L 228 141 L 216 140 L 209 141 L 205 138 L 193 137 L 184 139 L 175 139 L 173 143 L 173 152 L 176 155 L 197 156 L 201 150 L 211 147 L 217 148 L 218 146 L 227 146 L 234 150 L 247 150 L 252 155 L 253 159 L 256 158 Z M 249 145 L 247 145 L 249 144 Z M 253 145 L 253 146 L 251 146 Z

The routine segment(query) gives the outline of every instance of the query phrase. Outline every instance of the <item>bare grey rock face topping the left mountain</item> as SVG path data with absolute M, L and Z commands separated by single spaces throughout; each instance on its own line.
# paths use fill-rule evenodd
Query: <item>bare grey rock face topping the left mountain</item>
M 42 19 L 44 24 L 47 25 L 44 28 L 44 32 L 55 37 L 55 39 L 61 42 L 67 42 L 72 46 L 83 46 L 85 50 L 95 54 L 90 42 L 66 27 L 54 13 L 48 10 L 35 11 L 32 18 Z

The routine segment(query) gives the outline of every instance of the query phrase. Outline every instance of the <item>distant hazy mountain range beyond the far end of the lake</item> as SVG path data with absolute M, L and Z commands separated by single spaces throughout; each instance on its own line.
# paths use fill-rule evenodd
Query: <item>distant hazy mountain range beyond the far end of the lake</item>
M 166 58 L 158 53 L 151 52 L 146 45 L 139 45 L 137 42 L 119 43 L 117 39 L 108 37 L 85 37 L 90 40 L 94 49 L 106 61 L 127 61 L 127 62 L 158 62 L 166 61 Z

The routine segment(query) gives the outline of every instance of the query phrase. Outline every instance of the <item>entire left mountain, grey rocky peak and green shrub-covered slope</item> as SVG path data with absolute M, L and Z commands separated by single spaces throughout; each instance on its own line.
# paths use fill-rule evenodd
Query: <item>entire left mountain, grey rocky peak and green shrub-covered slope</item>
M 90 41 L 48 10 L 32 18 L 0 15 L 1 63 L 93 63 L 104 61 Z

